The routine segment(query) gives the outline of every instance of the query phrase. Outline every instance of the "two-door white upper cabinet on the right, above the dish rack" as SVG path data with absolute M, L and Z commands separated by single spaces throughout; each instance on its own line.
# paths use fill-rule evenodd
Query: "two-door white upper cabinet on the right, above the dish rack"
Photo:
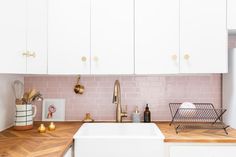
M 227 64 L 226 0 L 135 1 L 136 74 L 226 73 Z

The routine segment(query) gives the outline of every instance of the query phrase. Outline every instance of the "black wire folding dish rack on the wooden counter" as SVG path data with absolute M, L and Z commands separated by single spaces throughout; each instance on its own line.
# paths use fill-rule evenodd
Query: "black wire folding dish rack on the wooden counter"
M 172 120 L 176 134 L 184 129 L 223 129 L 228 135 L 222 116 L 226 109 L 215 109 L 211 103 L 193 103 L 195 108 L 181 108 L 182 103 L 170 103 Z

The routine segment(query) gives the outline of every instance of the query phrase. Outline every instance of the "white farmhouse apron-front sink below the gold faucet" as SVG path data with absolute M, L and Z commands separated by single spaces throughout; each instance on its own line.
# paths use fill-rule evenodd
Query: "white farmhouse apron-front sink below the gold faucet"
M 153 123 L 86 123 L 74 140 L 75 157 L 164 156 L 164 136 Z

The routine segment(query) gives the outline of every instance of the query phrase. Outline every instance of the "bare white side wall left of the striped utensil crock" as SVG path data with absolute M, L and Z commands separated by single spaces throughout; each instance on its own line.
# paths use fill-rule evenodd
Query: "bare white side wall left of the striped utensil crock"
M 14 123 L 15 97 L 11 83 L 16 79 L 24 81 L 23 76 L 0 75 L 0 131 Z

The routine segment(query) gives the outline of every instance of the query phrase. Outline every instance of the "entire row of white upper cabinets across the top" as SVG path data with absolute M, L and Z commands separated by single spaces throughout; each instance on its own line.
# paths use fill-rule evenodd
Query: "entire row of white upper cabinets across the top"
M 226 73 L 226 1 L 1 0 L 0 73 Z

